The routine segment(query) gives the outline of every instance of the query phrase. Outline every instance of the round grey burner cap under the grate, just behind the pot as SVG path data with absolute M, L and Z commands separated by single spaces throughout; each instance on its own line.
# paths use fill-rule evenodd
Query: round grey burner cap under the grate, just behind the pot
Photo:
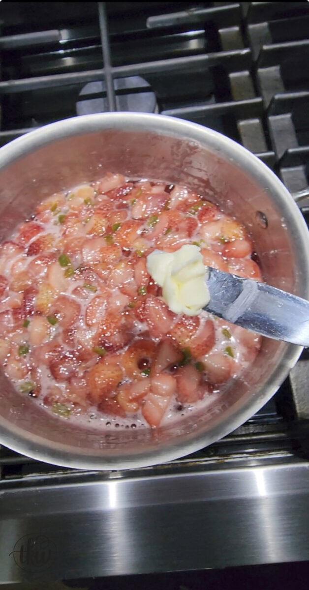
M 158 106 L 154 92 L 147 80 L 140 76 L 116 78 L 116 106 L 119 111 L 157 113 Z M 146 90 L 146 89 L 149 89 Z M 79 93 L 76 103 L 78 115 L 104 113 L 109 111 L 105 81 L 89 82 Z

